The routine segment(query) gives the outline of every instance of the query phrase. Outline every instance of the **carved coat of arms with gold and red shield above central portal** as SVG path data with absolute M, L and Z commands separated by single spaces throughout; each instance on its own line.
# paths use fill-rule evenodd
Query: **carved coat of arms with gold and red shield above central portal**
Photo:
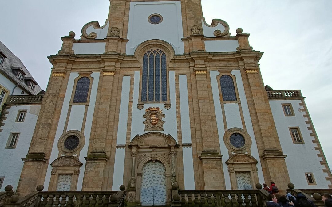
M 162 112 L 163 110 L 159 110 L 159 107 L 150 107 L 145 110 L 145 114 L 143 115 L 143 118 L 145 118 L 145 121 L 143 124 L 145 124 L 144 131 L 163 131 L 163 124 L 165 121 L 163 121 L 162 118 L 165 118 L 165 114 Z

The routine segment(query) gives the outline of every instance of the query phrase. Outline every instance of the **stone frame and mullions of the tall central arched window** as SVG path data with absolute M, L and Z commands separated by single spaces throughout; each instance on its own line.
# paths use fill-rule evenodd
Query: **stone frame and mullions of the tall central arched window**
M 143 79 L 143 58 L 144 58 L 144 55 L 147 54 L 148 51 L 151 51 L 153 52 L 154 50 L 161 50 L 163 51 L 163 53 L 165 54 L 166 56 L 166 89 L 167 89 L 167 100 L 166 101 L 162 101 L 162 97 L 161 97 L 161 100 L 160 101 L 148 101 L 148 93 L 147 93 L 147 97 L 146 97 L 146 101 L 142 101 L 142 79 Z M 151 54 L 151 53 L 150 53 Z M 148 54 L 148 58 L 149 58 L 149 55 Z M 160 53 L 159 53 L 160 54 Z M 155 59 L 155 58 L 154 58 Z M 148 59 L 149 60 L 149 59 Z M 160 55 L 160 60 L 161 60 L 161 55 Z M 141 57 L 140 57 L 140 74 L 139 74 L 139 96 L 138 96 L 138 102 L 137 104 L 140 105 L 140 104 L 146 104 L 146 103 L 160 103 L 160 104 L 170 104 L 171 101 L 170 101 L 170 90 L 169 90 L 169 61 L 170 61 L 170 57 L 169 57 L 169 53 L 167 51 L 167 49 L 165 48 L 149 48 L 147 50 L 145 50 L 144 53 L 141 54 Z M 154 69 L 155 71 L 155 69 Z M 161 68 L 160 68 L 160 74 L 161 74 Z M 149 76 L 149 74 L 148 74 Z M 154 73 L 154 76 L 155 76 L 155 73 Z M 161 76 L 160 76 L 161 77 Z M 160 79 L 160 83 L 162 83 L 162 80 Z M 155 84 L 154 84 L 155 86 Z M 153 88 L 154 88 L 153 86 Z M 149 90 L 149 84 L 147 84 L 147 91 Z M 160 90 L 162 91 L 162 86 L 160 84 Z M 155 91 L 155 88 L 154 88 L 154 91 Z

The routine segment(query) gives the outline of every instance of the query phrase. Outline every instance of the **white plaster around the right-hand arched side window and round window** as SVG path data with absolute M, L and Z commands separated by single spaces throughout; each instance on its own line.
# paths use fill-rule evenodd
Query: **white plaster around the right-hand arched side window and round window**
M 239 98 L 241 101 L 244 123 L 246 125 L 247 132 L 250 135 L 251 143 L 252 143 L 250 151 L 251 151 L 251 155 L 254 158 L 256 158 L 256 160 L 258 160 L 258 163 L 257 163 L 258 172 L 257 173 L 258 173 L 258 179 L 261 183 L 264 181 L 264 176 L 263 176 L 261 163 L 259 162 L 260 157 L 258 154 L 256 138 L 255 138 L 254 130 L 253 130 L 252 123 L 251 123 L 248 103 L 247 103 L 246 94 L 244 91 L 243 82 L 242 82 L 242 78 L 241 78 L 241 72 L 240 72 L 240 70 L 232 70 L 231 74 L 236 77 L 236 85 L 237 85 L 237 89 L 238 89 L 238 93 L 239 93 Z M 224 176 L 225 176 L 225 185 L 226 185 L 226 189 L 231 189 L 230 177 L 229 177 L 229 173 L 228 173 L 228 166 L 225 163 L 229 159 L 229 156 L 228 156 L 228 149 L 223 140 L 223 136 L 225 134 L 225 129 L 224 129 L 223 114 L 222 114 L 222 109 L 221 109 L 221 104 L 220 104 L 219 86 L 218 86 L 218 82 L 217 82 L 218 80 L 216 78 L 216 76 L 218 76 L 218 75 L 219 75 L 218 71 L 210 71 L 213 102 L 214 102 L 214 109 L 215 109 L 215 113 L 216 113 L 216 121 L 217 121 L 218 135 L 219 135 L 220 151 L 221 151 L 221 155 L 223 155 L 222 166 L 223 166 L 223 171 L 224 171 Z M 234 113 L 232 113 L 232 112 L 234 112 Z M 242 126 L 242 123 L 240 124 L 240 121 L 239 121 L 239 120 L 241 120 L 241 117 L 240 117 L 238 106 L 237 106 L 237 109 L 234 106 L 234 104 L 225 106 L 225 114 L 226 114 L 226 122 L 227 122 L 228 129 L 232 128 L 232 127 Z M 239 127 L 239 128 L 243 129 L 243 127 Z M 256 183 L 252 183 L 252 184 L 254 187 Z

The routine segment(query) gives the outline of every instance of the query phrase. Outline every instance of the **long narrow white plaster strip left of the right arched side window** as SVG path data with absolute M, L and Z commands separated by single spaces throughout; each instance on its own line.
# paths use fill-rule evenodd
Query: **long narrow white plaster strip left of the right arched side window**
M 218 128 L 218 136 L 219 136 L 219 144 L 220 144 L 220 154 L 222 155 L 222 169 L 224 172 L 225 177 L 225 187 L 226 190 L 232 189 L 230 184 L 230 177 L 228 173 L 228 166 L 225 163 L 229 156 L 228 156 L 228 149 L 224 142 L 224 134 L 225 134 L 225 128 L 224 128 L 224 120 L 223 120 L 223 114 L 220 104 L 220 96 L 219 96 L 219 86 L 217 82 L 216 76 L 219 75 L 218 71 L 210 71 L 210 77 L 211 77 L 211 86 L 212 86 L 212 95 L 213 95 L 213 103 L 214 103 L 214 110 L 216 114 L 216 121 L 217 121 L 217 128 Z

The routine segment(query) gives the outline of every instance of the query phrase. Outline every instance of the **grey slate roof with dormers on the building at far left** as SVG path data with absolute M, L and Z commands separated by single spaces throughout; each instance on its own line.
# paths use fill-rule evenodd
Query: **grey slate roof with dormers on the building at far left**
M 2 73 L 4 76 L 9 78 L 11 81 L 19 84 L 22 88 L 24 88 L 26 91 L 28 91 L 32 95 L 37 95 L 38 93 L 43 93 L 41 88 L 39 87 L 37 81 L 31 76 L 27 68 L 23 65 L 21 60 L 16 57 L 1 41 L 0 41 L 0 54 L 4 54 L 6 58 L 4 59 L 3 63 L 0 64 L 0 73 Z M 19 69 L 22 70 L 25 75 L 23 80 L 20 80 L 17 78 L 12 69 Z M 29 88 L 29 86 L 26 84 L 25 80 L 33 80 L 33 82 L 37 83 L 35 85 L 35 90 L 32 90 Z M 11 90 L 12 88 L 8 88 Z

